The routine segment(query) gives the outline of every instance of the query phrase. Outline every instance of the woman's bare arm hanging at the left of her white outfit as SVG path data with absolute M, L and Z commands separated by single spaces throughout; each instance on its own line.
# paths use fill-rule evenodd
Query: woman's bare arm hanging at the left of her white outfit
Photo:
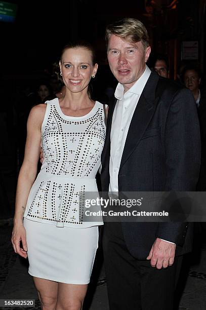
M 23 215 L 29 191 L 36 177 L 41 142 L 41 127 L 45 111 L 46 105 L 39 104 L 34 106 L 29 113 L 24 161 L 17 182 L 12 244 L 15 252 L 25 258 L 27 257 L 27 244 L 26 232 L 23 226 Z M 22 242 L 23 249 L 20 248 L 20 241 Z

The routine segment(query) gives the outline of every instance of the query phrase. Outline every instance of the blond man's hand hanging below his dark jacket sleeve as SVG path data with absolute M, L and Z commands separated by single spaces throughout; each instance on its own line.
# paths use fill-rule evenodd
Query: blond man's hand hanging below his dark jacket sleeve
M 152 267 L 156 267 L 157 269 L 167 268 L 174 263 L 175 250 L 176 244 L 157 238 L 152 245 L 147 259 L 151 260 L 150 264 Z

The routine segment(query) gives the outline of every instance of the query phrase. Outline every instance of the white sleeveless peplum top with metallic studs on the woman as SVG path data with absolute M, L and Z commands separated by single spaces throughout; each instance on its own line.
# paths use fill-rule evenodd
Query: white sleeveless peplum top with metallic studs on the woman
M 105 139 L 103 105 L 83 117 L 65 115 L 58 98 L 47 101 L 42 125 L 44 162 L 29 193 L 24 216 L 57 226 L 90 227 L 83 222 L 79 192 L 96 191 L 95 176 Z

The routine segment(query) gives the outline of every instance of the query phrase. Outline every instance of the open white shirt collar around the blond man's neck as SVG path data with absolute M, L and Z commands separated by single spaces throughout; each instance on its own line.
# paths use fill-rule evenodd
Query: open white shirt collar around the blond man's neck
M 122 84 L 118 83 L 114 96 L 118 100 L 125 100 L 125 96 L 129 97 L 131 94 L 141 95 L 145 84 L 147 83 L 147 80 L 149 79 L 149 75 L 151 73 L 151 70 L 146 65 L 146 68 L 140 78 L 137 80 L 137 82 L 126 92 L 124 93 L 124 88 Z

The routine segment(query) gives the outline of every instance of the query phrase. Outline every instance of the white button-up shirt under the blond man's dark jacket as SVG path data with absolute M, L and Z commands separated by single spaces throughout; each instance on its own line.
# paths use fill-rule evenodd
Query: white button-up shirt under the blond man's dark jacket
M 109 191 L 111 192 L 118 191 L 118 173 L 123 148 L 125 147 L 125 141 L 135 108 L 149 79 L 150 73 L 151 70 L 146 66 L 144 73 L 125 94 L 123 86 L 120 83 L 116 87 L 114 96 L 118 100 L 114 108 L 110 134 Z

